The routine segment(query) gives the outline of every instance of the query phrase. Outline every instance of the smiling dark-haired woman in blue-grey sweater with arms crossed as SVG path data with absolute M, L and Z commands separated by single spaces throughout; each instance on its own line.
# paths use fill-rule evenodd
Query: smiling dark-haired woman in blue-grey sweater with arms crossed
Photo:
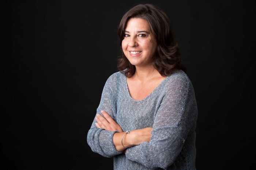
M 169 19 L 139 4 L 118 27 L 123 55 L 103 88 L 87 134 L 115 170 L 196 169 L 197 104 Z

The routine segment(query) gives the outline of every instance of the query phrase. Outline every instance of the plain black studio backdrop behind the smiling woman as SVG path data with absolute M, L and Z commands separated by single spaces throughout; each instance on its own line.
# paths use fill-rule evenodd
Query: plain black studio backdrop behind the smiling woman
M 86 136 L 117 71 L 117 26 L 154 3 L 169 16 L 195 88 L 198 170 L 253 169 L 253 0 L 2 1 L 1 167 L 113 169 Z

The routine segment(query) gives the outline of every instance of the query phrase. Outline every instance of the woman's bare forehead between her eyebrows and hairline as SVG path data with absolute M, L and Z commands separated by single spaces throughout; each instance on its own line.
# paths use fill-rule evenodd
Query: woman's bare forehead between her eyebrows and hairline
M 150 31 L 150 28 L 147 20 L 131 18 L 127 21 L 125 31 Z

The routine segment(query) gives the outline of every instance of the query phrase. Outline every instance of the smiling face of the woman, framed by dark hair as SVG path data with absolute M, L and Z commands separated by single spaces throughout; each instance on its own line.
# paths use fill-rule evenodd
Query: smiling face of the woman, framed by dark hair
M 122 41 L 122 49 L 129 62 L 138 67 L 150 65 L 156 48 L 157 40 L 148 22 L 141 18 L 129 19 Z

